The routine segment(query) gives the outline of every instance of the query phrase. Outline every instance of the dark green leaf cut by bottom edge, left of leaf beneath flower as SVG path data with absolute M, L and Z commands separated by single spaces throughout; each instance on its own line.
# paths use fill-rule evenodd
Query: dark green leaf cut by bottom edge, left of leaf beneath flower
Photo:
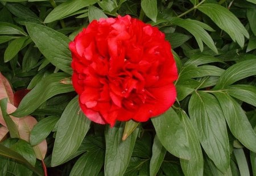
M 98 175 L 104 164 L 104 151 L 96 149 L 86 152 L 76 161 L 70 176 L 76 175 Z

